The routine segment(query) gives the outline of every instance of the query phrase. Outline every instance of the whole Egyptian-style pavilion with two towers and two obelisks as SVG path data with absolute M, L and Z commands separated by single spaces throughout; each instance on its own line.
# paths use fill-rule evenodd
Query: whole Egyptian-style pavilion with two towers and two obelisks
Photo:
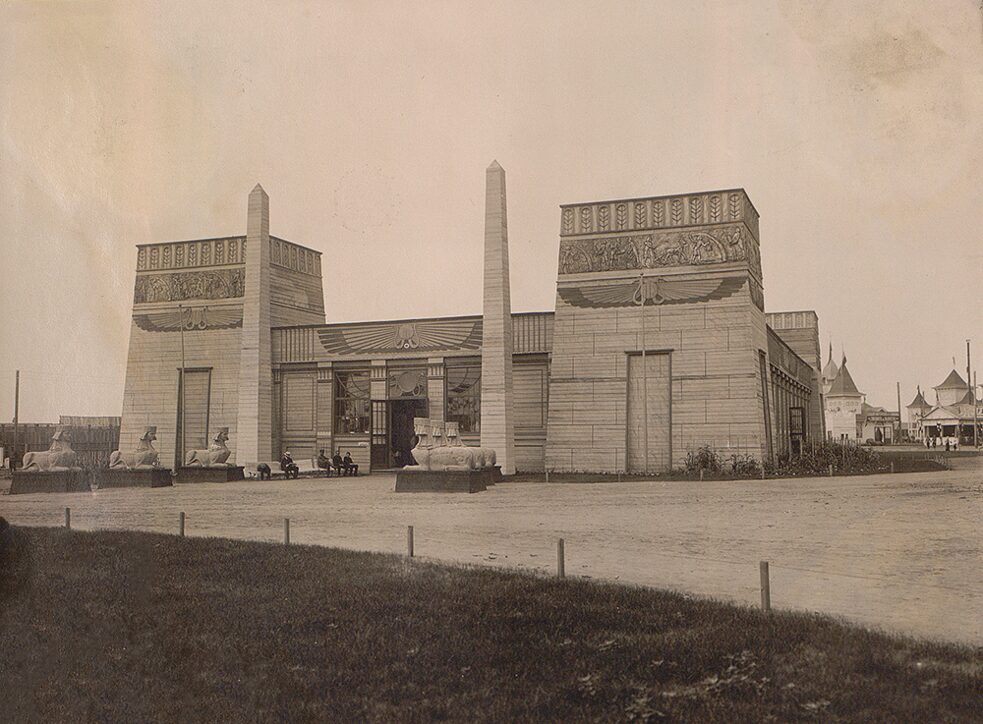
M 818 318 L 765 313 L 743 189 L 559 212 L 555 309 L 522 314 L 497 163 L 480 316 L 327 323 L 321 254 L 270 235 L 259 185 L 245 235 L 138 246 L 121 449 L 156 426 L 177 467 L 227 427 L 247 470 L 322 449 L 378 470 L 426 417 L 505 475 L 656 473 L 702 446 L 770 460 L 825 437 Z

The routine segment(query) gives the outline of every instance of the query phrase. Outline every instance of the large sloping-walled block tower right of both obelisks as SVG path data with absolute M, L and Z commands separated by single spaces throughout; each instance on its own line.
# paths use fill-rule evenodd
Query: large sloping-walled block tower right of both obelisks
M 618 472 L 637 461 L 628 358 L 643 346 L 669 361 L 669 409 L 661 379 L 648 392 L 650 443 L 668 433 L 662 469 L 704 445 L 769 454 L 757 230 L 739 189 L 562 207 L 548 469 Z

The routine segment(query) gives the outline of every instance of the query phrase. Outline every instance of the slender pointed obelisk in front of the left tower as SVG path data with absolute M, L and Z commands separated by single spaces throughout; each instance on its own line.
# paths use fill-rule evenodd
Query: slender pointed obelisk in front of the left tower
M 231 350 L 230 350 L 231 353 Z M 249 194 L 246 283 L 239 361 L 236 459 L 255 469 L 273 460 L 273 372 L 270 350 L 270 197 L 263 187 Z

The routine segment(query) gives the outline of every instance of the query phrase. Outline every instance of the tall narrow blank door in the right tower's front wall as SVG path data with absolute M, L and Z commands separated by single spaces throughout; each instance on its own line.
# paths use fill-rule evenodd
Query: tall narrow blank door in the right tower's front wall
M 672 466 L 671 405 L 669 353 L 646 354 L 644 363 L 642 355 L 629 355 L 627 415 L 629 472 L 658 473 L 665 472 Z M 646 448 L 648 449 L 647 464 Z

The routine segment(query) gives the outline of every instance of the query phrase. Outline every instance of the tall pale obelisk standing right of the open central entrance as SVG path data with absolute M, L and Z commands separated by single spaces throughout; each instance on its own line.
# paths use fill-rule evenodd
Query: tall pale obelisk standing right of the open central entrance
M 515 474 L 512 405 L 512 302 L 505 170 L 485 171 L 485 281 L 481 341 L 481 446 L 492 448 L 503 475 Z

